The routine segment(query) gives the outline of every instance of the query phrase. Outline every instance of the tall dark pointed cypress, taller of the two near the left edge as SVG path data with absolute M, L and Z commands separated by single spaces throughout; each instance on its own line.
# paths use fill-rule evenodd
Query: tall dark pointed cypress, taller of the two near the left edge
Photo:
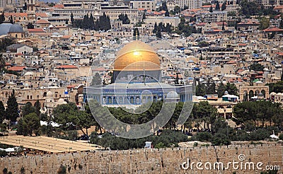
M 18 103 L 15 97 L 15 91 L 13 91 L 7 101 L 6 119 L 11 120 L 11 122 L 16 122 L 17 117 L 18 117 Z

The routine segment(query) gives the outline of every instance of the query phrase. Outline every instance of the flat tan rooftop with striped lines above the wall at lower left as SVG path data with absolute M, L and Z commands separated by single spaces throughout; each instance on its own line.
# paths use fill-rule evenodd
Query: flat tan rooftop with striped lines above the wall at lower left
M 0 137 L 0 144 L 23 146 L 25 149 L 35 149 L 49 153 L 63 153 L 76 151 L 94 151 L 101 149 L 95 144 L 70 141 L 52 137 L 24 137 L 22 135 Z

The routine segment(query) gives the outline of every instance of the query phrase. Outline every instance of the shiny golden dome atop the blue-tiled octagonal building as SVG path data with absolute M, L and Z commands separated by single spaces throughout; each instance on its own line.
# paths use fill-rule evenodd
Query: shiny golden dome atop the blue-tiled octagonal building
M 114 62 L 117 71 L 159 70 L 160 60 L 156 52 L 146 43 L 136 40 L 129 42 L 119 52 Z

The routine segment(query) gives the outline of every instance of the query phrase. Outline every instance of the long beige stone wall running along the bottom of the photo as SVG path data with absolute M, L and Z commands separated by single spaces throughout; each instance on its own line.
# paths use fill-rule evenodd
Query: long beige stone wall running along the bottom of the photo
M 59 166 L 69 168 L 69 173 L 260 173 L 265 166 L 282 166 L 282 144 L 246 144 L 230 146 L 197 146 L 191 148 L 169 149 L 139 149 L 132 151 L 95 151 L 79 153 L 59 153 L 42 156 L 4 157 L 0 159 L 0 172 L 6 167 L 13 173 L 20 173 L 21 167 L 25 173 L 57 173 Z M 238 156 L 243 154 L 243 161 Z M 243 157 L 243 156 L 241 156 Z M 189 159 L 189 160 L 187 160 Z M 181 164 L 189 161 L 192 169 L 184 170 Z M 214 163 L 231 162 L 229 168 L 213 170 Z M 233 161 L 234 167 L 232 165 Z M 196 164 L 202 162 L 198 170 Z M 245 169 L 245 163 L 255 164 L 255 170 Z M 257 163 L 263 164 L 257 169 Z M 238 164 L 237 164 L 238 163 Z M 241 170 L 241 163 L 242 169 Z M 187 163 L 183 165 L 187 166 Z M 238 169 L 236 167 L 238 166 Z M 217 165 L 216 165 L 217 168 Z M 252 168 L 252 166 L 250 167 Z M 282 172 L 280 168 L 279 172 Z

